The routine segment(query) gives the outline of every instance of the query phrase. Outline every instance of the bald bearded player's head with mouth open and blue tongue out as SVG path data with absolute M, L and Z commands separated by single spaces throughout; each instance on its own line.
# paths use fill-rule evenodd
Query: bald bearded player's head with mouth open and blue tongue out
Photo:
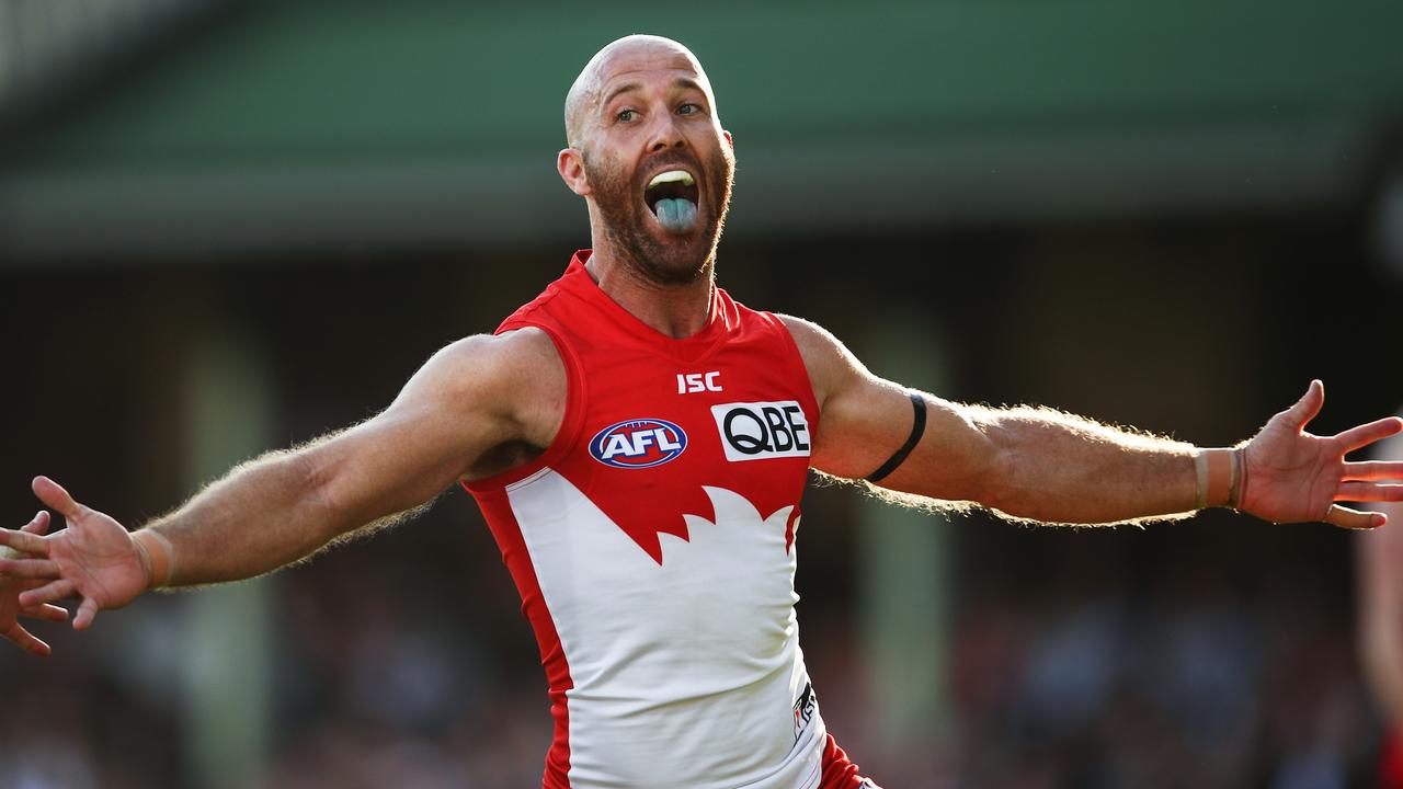
M 735 173 L 706 74 L 685 49 L 655 42 L 606 49 L 592 66 L 572 93 L 582 184 L 571 188 L 640 272 L 690 282 L 716 256 Z

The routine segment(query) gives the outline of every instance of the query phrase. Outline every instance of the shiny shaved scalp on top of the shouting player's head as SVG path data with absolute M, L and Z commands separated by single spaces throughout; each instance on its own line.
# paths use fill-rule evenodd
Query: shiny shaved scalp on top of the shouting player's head
M 626 35 L 595 53 L 565 94 L 565 145 L 582 147 L 591 122 L 598 119 L 603 87 L 610 79 L 648 69 L 686 69 L 696 74 L 711 107 L 716 95 L 690 49 L 661 35 Z

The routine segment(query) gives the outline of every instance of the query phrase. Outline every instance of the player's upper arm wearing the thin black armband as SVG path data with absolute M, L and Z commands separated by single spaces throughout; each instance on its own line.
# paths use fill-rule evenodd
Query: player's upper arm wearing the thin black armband
M 925 410 L 925 427 L 906 459 L 881 486 L 934 498 L 978 500 L 979 482 L 996 459 L 996 446 L 976 410 L 878 378 L 824 329 L 787 316 L 784 321 L 819 403 L 815 469 L 866 479 L 887 463 L 912 437 L 915 393 Z

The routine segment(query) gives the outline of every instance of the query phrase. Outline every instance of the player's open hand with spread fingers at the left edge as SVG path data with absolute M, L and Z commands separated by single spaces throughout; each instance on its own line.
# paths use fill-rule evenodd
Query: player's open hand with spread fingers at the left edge
M 0 545 L 28 559 L 0 559 L 0 576 L 25 583 L 48 581 L 18 597 L 21 606 L 39 606 L 70 595 L 83 602 L 73 629 L 93 625 L 98 611 L 121 608 L 150 585 L 147 569 L 132 535 L 108 515 L 79 504 L 49 477 L 34 479 L 34 494 L 67 521 L 67 528 L 41 536 L 24 529 L 0 529 Z

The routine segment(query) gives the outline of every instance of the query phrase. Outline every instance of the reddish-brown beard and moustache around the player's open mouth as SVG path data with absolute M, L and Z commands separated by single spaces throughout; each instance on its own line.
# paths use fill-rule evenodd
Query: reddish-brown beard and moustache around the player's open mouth
M 657 216 L 643 199 L 645 184 L 641 174 L 668 164 L 687 166 L 704 187 L 699 194 L 697 227 L 682 234 L 661 232 Z M 687 285 L 716 263 L 716 247 L 721 241 L 735 180 L 735 154 L 728 149 L 718 147 L 704 166 L 682 153 L 666 152 L 650 156 L 631 173 L 623 166 L 595 161 L 588 153 L 584 167 L 605 234 L 624 263 L 644 279 L 657 285 Z

